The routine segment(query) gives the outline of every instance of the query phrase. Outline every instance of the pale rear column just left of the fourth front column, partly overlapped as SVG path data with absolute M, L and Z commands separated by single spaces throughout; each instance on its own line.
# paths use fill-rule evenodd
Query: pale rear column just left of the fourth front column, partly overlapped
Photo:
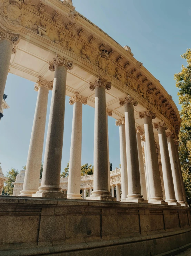
M 119 143 L 120 143 L 120 164 L 121 164 L 121 201 L 126 201 L 128 195 L 128 178 L 127 178 L 127 155 L 125 141 L 125 118 L 115 121 L 115 125 L 119 126 Z

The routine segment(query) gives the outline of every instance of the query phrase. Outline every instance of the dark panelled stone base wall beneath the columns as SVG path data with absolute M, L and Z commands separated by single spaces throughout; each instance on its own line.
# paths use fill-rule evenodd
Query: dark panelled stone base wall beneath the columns
M 0 205 L 3 256 L 153 256 L 191 243 L 181 206 L 14 196 Z

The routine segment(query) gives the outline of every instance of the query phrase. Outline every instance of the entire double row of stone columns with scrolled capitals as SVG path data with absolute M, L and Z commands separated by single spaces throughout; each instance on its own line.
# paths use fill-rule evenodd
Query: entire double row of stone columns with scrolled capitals
M 2 101 L 4 93 L 12 50 L 20 38 L 19 34 L 8 33 L 6 30 L 2 31 L 4 34 L 1 35 L 0 40 L 0 101 Z M 20 196 L 56 198 L 66 198 L 68 196 L 68 198 L 81 198 L 82 105 L 87 104 L 87 98 L 77 93 L 70 98 L 70 104 L 74 105 L 74 108 L 68 194 L 62 193 L 60 187 L 66 79 L 67 70 L 72 68 L 73 61 L 56 54 L 53 61 L 49 63 L 49 70 L 54 72 L 53 83 L 39 78 L 35 85 L 38 97 L 28 152 L 26 175 Z M 105 90 L 109 89 L 111 89 L 111 83 L 101 77 L 90 82 L 90 90 L 95 90 L 94 180 L 93 191 L 89 193 L 88 197 L 92 200 L 115 200 L 110 194 L 109 184 L 107 116 L 111 114 L 108 114 L 105 100 Z M 42 183 L 38 188 L 49 90 L 52 90 L 52 98 Z M 144 120 L 144 130 L 141 130 L 140 127 L 135 127 L 134 118 L 133 106 L 137 106 L 138 102 L 128 95 L 120 99 L 119 104 L 124 106 L 124 118 L 116 122 L 120 132 L 121 200 L 137 203 L 187 205 L 177 141 L 174 141 L 174 133 L 165 133 L 166 126 L 164 122 L 154 124 L 154 128 L 158 130 L 159 134 L 166 195 L 164 201 L 153 133 L 152 119 L 155 118 L 155 114 L 151 110 L 139 113 L 139 117 Z M 143 134 L 144 137 L 142 136 Z M 141 140 L 144 143 L 146 172 L 144 171 Z M 119 197 L 118 185 L 116 189 Z M 86 192 L 84 191 L 84 193 Z

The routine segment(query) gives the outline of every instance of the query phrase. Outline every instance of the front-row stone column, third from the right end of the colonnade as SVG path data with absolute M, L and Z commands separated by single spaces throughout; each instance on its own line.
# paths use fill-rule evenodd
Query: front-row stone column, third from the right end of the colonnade
M 159 134 L 159 145 L 160 145 L 160 155 L 161 155 L 161 164 L 162 164 L 162 174 L 163 174 L 163 183 L 165 191 L 165 202 L 171 205 L 179 205 L 175 198 L 174 193 L 174 184 L 172 178 L 172 170 L 170 165 L 169 150 L 167 144 L 167 137 L 165 130 L 168 127 L 164 122 L 159 122 L 154 124 L 154 128 L 158 130 Z

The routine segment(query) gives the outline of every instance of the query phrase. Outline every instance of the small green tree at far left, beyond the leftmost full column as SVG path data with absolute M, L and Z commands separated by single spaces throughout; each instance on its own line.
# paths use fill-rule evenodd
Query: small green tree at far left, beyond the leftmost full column
M 15 182 L 16 176 L 19 174 L 18 170 L 16 170 L 14 167 L 11 167 L 11 170 L 8 171 L 8 174 L 6 177 L 9 179 L 5 181 L 5 186 L 3 187 L 2 195 L 12 195 L 13 194 L 13 187 L 14 185 L 12 182 Z

